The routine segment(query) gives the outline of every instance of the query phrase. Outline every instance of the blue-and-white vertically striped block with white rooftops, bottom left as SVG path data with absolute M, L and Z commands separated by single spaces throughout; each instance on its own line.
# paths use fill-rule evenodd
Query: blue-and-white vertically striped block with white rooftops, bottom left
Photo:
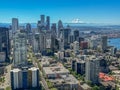
M 11 88 L 14 89 L 28 89 L 39 87 L 39 69 L 32 68 L 15 68 L 10 71 Z

